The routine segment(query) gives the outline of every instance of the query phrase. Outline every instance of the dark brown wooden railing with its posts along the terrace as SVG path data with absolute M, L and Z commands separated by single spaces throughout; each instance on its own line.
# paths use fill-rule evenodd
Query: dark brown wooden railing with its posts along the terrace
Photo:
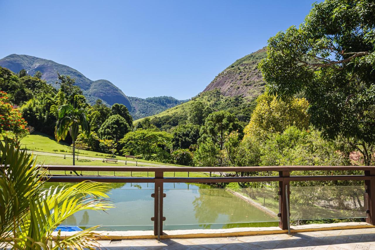
M 124 177 L 124 176 L 66 176 L 51 175 L 51 182 L 80 182 L 85 180 L 97 182 L 140 182 L 155 183 L 154 194 L 154 235 L 163 232 L 163 184 L 167 182 L 185 183 L 222 183 L 222 182 L 279 182 L 279 227 L 289 228 L 290 182 L 291 181 L 339 181 L 363 180 L 366 185 L 368 214 L 366 222 L 375 225 L 375 167 L 371 166 L 266 166 L 266 167 L 125 167 L 125 166 L 45 166 L 48 170 L 66 171 L 111 171 L 111 172 L 154 172 L 155 177 Z M 364 175 L 314 175 L 294 176 L 291 171 L 344 171 L 360 170 Z M 164 172 L 265 172 L 276 171 L 278 176 L 246 176 L 246 177 L 164 177 Z M 288 190 L 288 192 L 287 192 Z

